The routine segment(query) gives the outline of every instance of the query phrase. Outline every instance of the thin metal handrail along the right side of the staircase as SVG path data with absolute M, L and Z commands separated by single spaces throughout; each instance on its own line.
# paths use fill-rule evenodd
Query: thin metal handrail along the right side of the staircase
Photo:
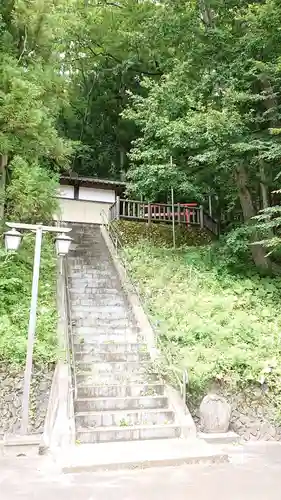
M 121 236 L 119 234 L 119 231 L 116 227 L 113 226 L 112 223 L 110 223 L 108 221 L 107 215 L 106 215 L 104 210 L 101 211 L 100 215 L 102 218 L 102 224 L 106 228 L 108 235 L 109 235 L 109 237 L 110 237 L 110 239 L 115 247 L 116 253 L 118 254 L 118 257 L 120 258 L 120 260 L 125 268 L 126 274 L 130 279 L 130 284 L 133 286 L 134 292 L 136 293 L 140 303 L 142 304 L 143 308 L 145 309 L 144 301 L 143 301 L 141 295 L 139 294 L 137 287 L 135 286 L 134 280 L 132 279 L 132 277 L 130 275 L 131 270 L 129 269 L 128 262 L 126 259 L 123 258 L 122 252 L 123 252 L 123 254 L 125 254 L 125 248 L 124 248 L 124 245 L 122 244 L 122 239 L 121 239 Z M 121 253 L 118 252 L 119 249 L 122 250 Z M 151 323 L 150 323 L 150 325 L 151 325 L 151 328 L 153 329 L 153 326 Z M 174 366 L 170 363 L 167 352 L 164 349 L 164 344 L 161 341 L 160 336 L 157 335 L 157 333 L 156 333 L 156 342 L 157 342 L 157 345 L 160 347 L 162 354 L 165 356 L 169 368 L 171 369 L 171 371 L 173 371 L 175 380 L 177 381 L 177 385 L 178 385 L 178 388 L 179 388 L 181 396 L 182 396 L 182 400 L 183 400 L 184 404 L 186 405 L 186 388 L 187 388 L 187 385 L 189 383 L 188 371 L 186 368 L 182 370 L 181 368 L 177 368 L 176 366 Z M 181 373 L 181 377 L 179 377 L 178 373 Z

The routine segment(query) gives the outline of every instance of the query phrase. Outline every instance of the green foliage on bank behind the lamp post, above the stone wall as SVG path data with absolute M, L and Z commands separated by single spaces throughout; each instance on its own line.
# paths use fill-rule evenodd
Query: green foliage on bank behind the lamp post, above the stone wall
M 23 365 L 26 356 L 34 236 L 25 236 L 18 253 L 0 248 L 0 361 Z M 57 357 L 56 259 L 54 244 L 44 236 L 40 268 L 34 362 L 47 364 Z

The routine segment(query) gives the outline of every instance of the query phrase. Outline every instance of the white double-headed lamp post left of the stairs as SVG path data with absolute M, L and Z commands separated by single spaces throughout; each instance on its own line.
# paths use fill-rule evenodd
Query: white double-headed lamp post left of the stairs
M 63 256 L 68 253 L 70 248 L 72 239 L 65 233 L 71 231 L 71 228 L 58 227 L 58 226 L 43 226 L 39 224 L 21 224 L 12 222 L 7 222 L 6 224 L 9 228 L 11 228 L 11 230 L 7 231 L 4 235 L 5 247 L 7 251 L 18 250 L 22 238 L 21 233 L 17 231 L 18 229 L 31 232 L 35 231 L 36 233 L 34 263 L 33 263 L 32 293 L 31 293 L 31 304 L 30 304 L 29 325 L 28 325 L 27 354 L 26 354 L 26 365 L 24 372 L 22 420 L 21 420 L 21 434 L 27 434 L 28 420 L 29 420 L 29 396 L 30 396 L 31 376 L 32 376 L 33 347 L 34 347 L 35 330 L 36 330 L 36 311 L 37 311 L 37 299 L 38 299 L 42 236 L 43 233 L 45 232 L 56 233 L 57 254 Z

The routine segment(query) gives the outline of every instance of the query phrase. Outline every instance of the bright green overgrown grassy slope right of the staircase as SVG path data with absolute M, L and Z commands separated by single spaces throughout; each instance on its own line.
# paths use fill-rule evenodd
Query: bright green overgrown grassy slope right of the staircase
M 258 386 L 280 401 L 281 281 L 252 271 L 234 274 L 210 247 L 173 251 L 149 242 L 127 246 L 126 259 L 154 328 L 190 390 L 214 382 Z

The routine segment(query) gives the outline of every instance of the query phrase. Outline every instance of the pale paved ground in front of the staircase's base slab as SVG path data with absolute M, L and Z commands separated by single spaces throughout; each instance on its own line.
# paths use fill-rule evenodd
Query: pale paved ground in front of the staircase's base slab
M 280 500 L 281 445 L 234 447 L 231 462 L 60 474 L 46 459 L 0 459 L 1 500 Z

